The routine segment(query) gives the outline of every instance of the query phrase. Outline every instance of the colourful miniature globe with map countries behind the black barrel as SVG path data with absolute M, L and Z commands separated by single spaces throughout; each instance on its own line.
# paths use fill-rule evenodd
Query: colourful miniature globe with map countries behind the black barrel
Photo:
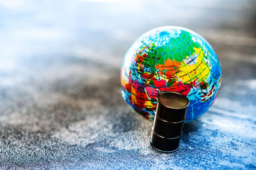
M 185 122 L 209 110 L 221 85 L 220 62 L 202 36 L 183 27 L 158 27 L 129 48 L 121 67 L 122 96 L 143 117 L 154 120 L 157 94 L 188 97 Z

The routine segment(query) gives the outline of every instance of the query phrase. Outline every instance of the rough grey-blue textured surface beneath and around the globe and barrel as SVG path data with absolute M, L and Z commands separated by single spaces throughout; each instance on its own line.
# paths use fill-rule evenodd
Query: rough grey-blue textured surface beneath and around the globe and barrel
M 0 169 L 256 168 L 256 3 L 0 1 Z M 215 49 L 222 85 L 184 125 L 180 149 L 148 143 L 152 122 L 120 93 L 131 43 L 163 25 Z

